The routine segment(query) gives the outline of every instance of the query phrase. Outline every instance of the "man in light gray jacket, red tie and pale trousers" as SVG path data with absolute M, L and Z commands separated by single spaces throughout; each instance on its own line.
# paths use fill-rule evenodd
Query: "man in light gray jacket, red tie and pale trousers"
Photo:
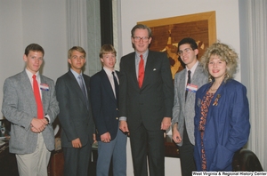
M 12 123 L 10 152 L 25 176 L 47 175 L 54 149 L 52 123 L 59 106 L 53 80 L 39 73 L 43 58 L 42 46 L 29 44 L 23 56 L 25 70 L 4 81 L 2 113 Z

